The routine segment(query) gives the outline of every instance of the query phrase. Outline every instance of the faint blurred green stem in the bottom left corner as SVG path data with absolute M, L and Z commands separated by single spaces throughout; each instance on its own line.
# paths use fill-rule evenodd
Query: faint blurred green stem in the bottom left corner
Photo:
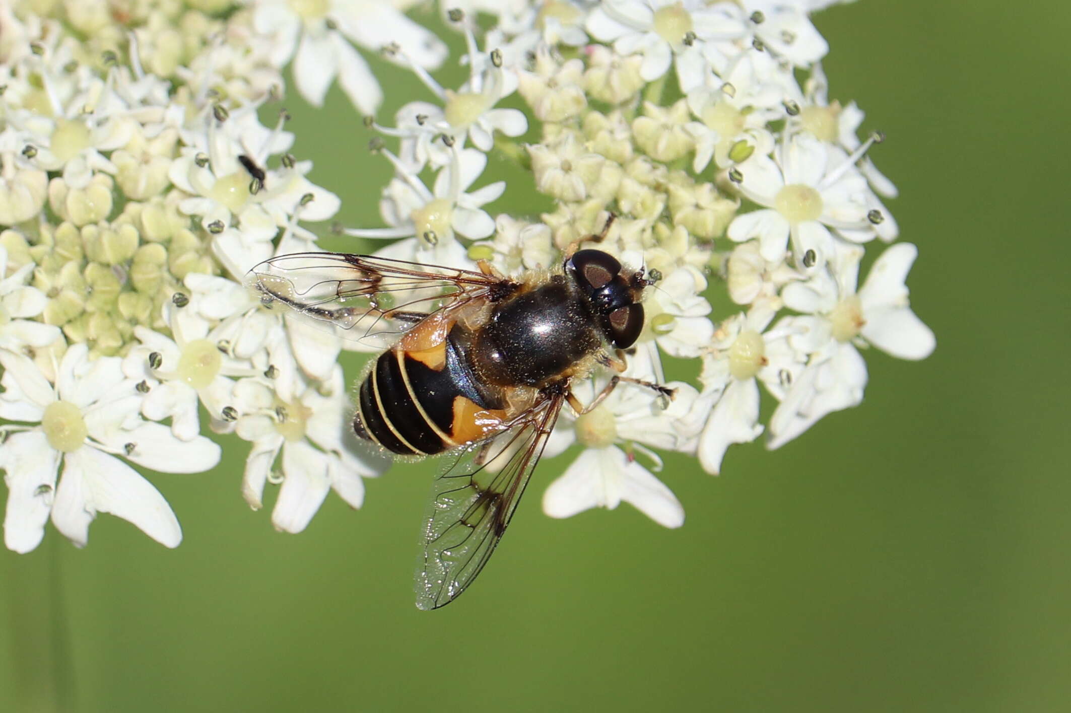
M 13 711 L 66 713 L 75 710 L 60 540 L 51 532 L 35 552 L 3 553 L 9 560 L 4 592 L 11 623 L 11 661 L 14 663 Z

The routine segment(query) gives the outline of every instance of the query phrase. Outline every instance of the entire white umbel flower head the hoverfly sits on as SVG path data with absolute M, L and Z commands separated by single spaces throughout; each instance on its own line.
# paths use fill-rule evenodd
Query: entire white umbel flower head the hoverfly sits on
M 859 134 L 863 112 L 831 98 L 821 66 L 812 14 L 835 2 L 466 1 L 440 3 L 444 30 L 408 4 L 4 11 L 9 547 L 35 547 L 49 519 L 82 545 L 97 513 L 175 546 L 160 474 L 212 468 L 216 443 L 245 449 L 235 491 L 250 506 L 280 486 L 271 521 L 287 532 L 332 491 L 361 506 L 363 479 L 386 467 L 343 436 L 357 375 L 337 356 L 365 345 L 242 284 L 266 258 L 318 251 L 305 224 L 359 199 L 313 183 L 290 153 L 288 113 L 271 108 L 287 67 L 316 106 L 337 80 L 392 170 L 381 224 L 341 232 L 383 241 L 383 257 L 502 274 L 598 247 L 652 280 L 623 380 L 590 411 L 567 409 L 547 445 L 548 458 L 574 451 L 545 490 L 550 516 L 627 502 L 678 527 L 660 451 L 731 469 L 729 445 L 765 434 L 780 447 L 859 405 L 870 347 L 934 349 L 908 302 L 918 249 L 894 242 L 883 199 L 896 188 L 871 157 L 884 137 Z M 373 54 L 426 90 L 393 118 L 377 116 L 392 87 Z M 448 65 L 464 79 L 435 74 Z M 507 184 L 502 162 L 528 178 Z M 698 375 L 672 400 L 636 383 L 664 382 L 665 356 Z M 573 392 L 598 400 L 608 378 L 595 369 Z

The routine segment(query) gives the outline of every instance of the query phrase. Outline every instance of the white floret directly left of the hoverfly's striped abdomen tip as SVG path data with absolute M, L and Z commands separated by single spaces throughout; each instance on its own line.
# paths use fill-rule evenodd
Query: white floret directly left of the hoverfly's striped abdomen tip
M 245 461 L 242 495 L 254 510 L 262 505 L 263 488 L 282 452 L 282 482 L 272 525 L 301 532 L 330 490 L 352 507 L 364 501 L 362 477 L 377 475 L 386 460 L 357 455 L 346 440 L 349 431 L 346 384 L 342 367 L 318 384 L 301 378 L 292 363 L 280 360 L 278 374 L 242 379 L 235 386 L 239 412 L 236 433 L 253 442 Z

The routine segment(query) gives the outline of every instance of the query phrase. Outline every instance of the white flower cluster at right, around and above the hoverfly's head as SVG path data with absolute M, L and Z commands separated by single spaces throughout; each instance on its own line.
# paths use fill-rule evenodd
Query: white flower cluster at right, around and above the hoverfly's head
M 467 47 L 469 78 L 453 90 L 393 49 L 431 101 L 403 106 L 393 126 L 374 124 L 397 140 L 393 152 L 380 146 L 395 168 L 380 202 L 387 227 L 348 232 L 404 239 L 382 255 L 468 268 L 485 259 L 504 273 L 598 246 L 658 278 L 627 375 L 661 381 L 664 356 L 702 364 L 699 388 L 670 384 L 672 404 L 622 384 L 595 410 L 567 414 L 545 455 L 574 442 L 585 451 L 546 490 L 547 514 L 625 500 L 679 526 L 683 509 L 637 455 L 658 470 L 651 447 L 691 453 L 718 473 L 733 443 L 765 430 L 778 447 L 859 404 L 860 348 L 903 359 L 933 350 L 904 285 L 914 245 L 885 249 L 857 289 L 863 246 L 897 238 L 881 202 L 895 187 L 866 157 L 880 135 L 860 140 L 862 111 L 828 97 L 829 47 L 810 13 L 830 4 L 443 4 Z M 482 37 L 474 28 L 487 22 L 474 13 L 494 21 Z M 525 111 L 509 106 L 515 91 Z M 530 132 L 536 140 L 518 146 Z M 485 210 L 506 189 L 470 187 L 487 154 L 529 167 L 554 212 L 526 221 Z M 719 290 L 739 314 L 714 323 Z M 765 426 L 759 381 L 779 401 Z M 593 398 L 602 383 L 577 394 Z

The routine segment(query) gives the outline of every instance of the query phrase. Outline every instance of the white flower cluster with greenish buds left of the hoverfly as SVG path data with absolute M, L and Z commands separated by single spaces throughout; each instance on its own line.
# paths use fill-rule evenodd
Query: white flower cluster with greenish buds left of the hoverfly
M 278 4 L 30 0 L 0 10 L 0 469 L 11 549 L 36 547 L 49 518 L 82 545 L 102 512 L 178 545 L 167 501 L 127 464 L 213 468 L 221 449 L 201 435 L 202 414 L 213 431 L 251 442 L 242 492 L 252 506 L 266 483 L 282 483 L 272 513 L 282 530 L 302 530 L 331 489 L 359 506 L 362 477 L 382 468 L 344 442 L 338 340 L 266 308 L 241 282 L 278 251 L 315 249 L 299 221 L 340 206 L 305 178 L 312 164 L 287 153 L 285 115 L 272 127 L 258 119 L 282 95 L 295 46 L 301 66 L 333 48 L 345 58 L 343 85 L 375 105 L 371 75 L 353 74 L 363 60 L 338 34 L 374 47 L 353 29 L 363 11 L 327 27 L 327 2 L 299 3 L 303 25 Z M 412 31 L 390 6 L 373 12 Z M 420 61 L 441 60 L 429 32 L 414 36 Z M 307 69 L 296 74 L 303 93 L 322 97 Z

